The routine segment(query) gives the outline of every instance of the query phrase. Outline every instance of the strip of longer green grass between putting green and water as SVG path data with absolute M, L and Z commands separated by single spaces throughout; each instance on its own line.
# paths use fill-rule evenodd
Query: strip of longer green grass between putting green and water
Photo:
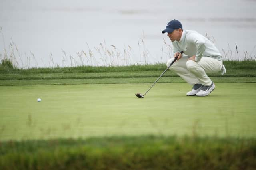
M 215 82 L 256 82 L 256 61 L 224 61 L 227 73 L 209 74 Z M 65 67 L 0 70 L 0 85 L 152 83 L 166 65 L 132 65 L 123 67 Z M 248 78 L 246 78 L 248 77 Z M 158 83 L 184 82 L 167 71 Z

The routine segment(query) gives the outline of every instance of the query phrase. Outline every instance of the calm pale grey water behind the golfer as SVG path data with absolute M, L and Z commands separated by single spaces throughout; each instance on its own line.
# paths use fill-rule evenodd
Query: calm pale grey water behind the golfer
M 166 62 L 170 50 L 164 40 L 168 44 L 170 40 L 161 31 L 172 19 L 180 20 L 184 29 L 204 36 L 207 32 L 226 59 L 256 55 L 256 0 L 1 0 L 1 4 L 0 54 L 3 57 L 6 48 L 18 59 L 22 55 L 19 67 Z M 12 41 L 19 52 L 10 49 Z M 113 52 L 112 59 L 94 47 Z M 88 56 L 91 50 L 90 60 L 78 57 L 82 50 Z

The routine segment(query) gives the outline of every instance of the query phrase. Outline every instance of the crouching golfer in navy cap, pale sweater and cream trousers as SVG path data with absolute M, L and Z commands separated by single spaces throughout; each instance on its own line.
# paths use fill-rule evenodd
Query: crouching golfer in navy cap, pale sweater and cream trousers
M 226 69 L 222 64 L 222 55 L 206 37 L 196 31 L 183 30 L 178 20 L 171 20 L 162 33 L 172 41 L 173 55 L 178 55 L 177 61 L 170 70 L 177 73 L 182 79 L 192 85 L 188 96 L 208 96 L 214 89 L 214 82 L 208 77 L 208 73 L 221 71 L 223 75 Z M 180 51 L 184 51 L 183 54 Z M 167 62 L 167 67 L 174 60 Z

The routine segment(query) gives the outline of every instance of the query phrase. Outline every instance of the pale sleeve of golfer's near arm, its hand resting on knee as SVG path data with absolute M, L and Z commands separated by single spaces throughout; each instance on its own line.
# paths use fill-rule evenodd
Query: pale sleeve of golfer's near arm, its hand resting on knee
M 188 42 L 194 43 L 196 45 L 196 62 L 200 61 L 205 51 L 205 41 L 204 39 L 196 33 L 192 33 L 188 36 Z

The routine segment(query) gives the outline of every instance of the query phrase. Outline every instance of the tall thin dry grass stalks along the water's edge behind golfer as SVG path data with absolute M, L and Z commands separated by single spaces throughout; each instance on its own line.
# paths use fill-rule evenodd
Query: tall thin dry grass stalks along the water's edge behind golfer
M 96 47 L 90 47 L 86 42 L 86 46 L 81 51 L 77 51 L 73 54 L 71 51 L 67 52 L 64 49 L 61 50 L 61 61 L 56 61 L 59 56 L 54 56 L 50 52 L 47 62 L 43 59 L 38 59 L 32 51 L 28 54 L 21 53 L 14 41 L 6 46 L 4 41 L 4 34 L 2 27 L 0 27 L 0 33 L 2 34 L 2 41 L 4 49 L 0 52 L 0 64 L 9 61 L 14 68 L 28 69 L 37 67 L 78 67 L 78 66 L 127 66 L 127 65 L 148 65 L 148 64 L 160 64 L 166 63 L 166 61 L 173 56 L 172 43 L 163 39 L 161 53 L 158 56 L 152 56 L 150 50 L 147 47 L 146 38 L 144 32 L 142 32 L 142 38 L 138 40 L 138 46 L 132 47 L 131 45 L 124 45 L 122 48 L 117 45 L 108 45 L 106 41 L 101 42 Z M 215 44 L 216 40 L 212 36 L 207 34 L 212 43 Z M 228 42 L 227 42 L 228 43 Z M 138 49 L 138 50 L 136 50 Z M 247 50 L 240 53 L 237 44 L 235 48 L 231 49 L 228 43 L 228 50 L 222 49 L 221 53 L 226 61 L 244 61 L 244 60 L 256 60 L 256 56 L 253 54 L 256 49 L 256 45 L 248 52 Z M 154 63 L 152 63 L 154 59 Z

